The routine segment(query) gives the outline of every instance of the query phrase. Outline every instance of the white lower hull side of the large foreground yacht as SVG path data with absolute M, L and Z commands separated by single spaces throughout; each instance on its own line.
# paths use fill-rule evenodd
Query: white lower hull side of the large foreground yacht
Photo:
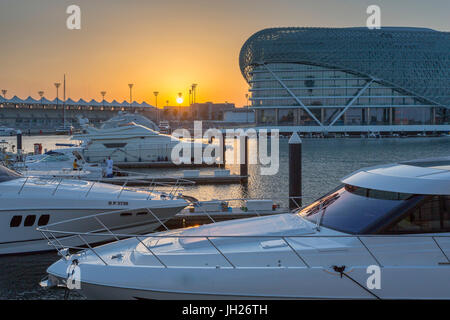
M 166 271 L 147 270 L 145 275 L 137 275 L 140 272 L 134 270 L 133 275 L 126 276 L 124 273 L 122 279 L 117 280 L 127 280 L 130 283 L 130 278 L 139 276 L 140 284 L 136 283 L 136 286 L 140 288 L 82 280 L 81 292 L 88 299 L 100 300 L 450 299 L 450 286 L 446 280 L 450 277 L 449 267 L 435 270 L 427 267 L 386 268 L 383 271 L 381 289 L 369 290 L 372 294 L 350 279 L 341 278 L 339 274 L 325 268 L 195 271 L 176 268 Z M 354 268 L 350 275 L 362 286 L 366 286 L 368 275 L 365 268 Z M 81 279 L 85 276 L 81 266 Z M 150 289 L 151 287 L 153 288 Z

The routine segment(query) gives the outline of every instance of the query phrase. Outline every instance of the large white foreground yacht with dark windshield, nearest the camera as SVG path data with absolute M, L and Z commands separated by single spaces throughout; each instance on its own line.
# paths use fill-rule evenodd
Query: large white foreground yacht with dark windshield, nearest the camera
M 342 182 L 292 214 L 67 255 L 47 283 L 76 261 L 94 299 L 450 299 L 450 157 L 361 169 Z

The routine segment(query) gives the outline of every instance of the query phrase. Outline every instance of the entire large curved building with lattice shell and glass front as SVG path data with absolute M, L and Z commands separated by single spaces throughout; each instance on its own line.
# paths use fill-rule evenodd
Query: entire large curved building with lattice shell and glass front
M 239 64 L 259 125 L 449 131 L 448 52 L 425 28 L 271 28 Z

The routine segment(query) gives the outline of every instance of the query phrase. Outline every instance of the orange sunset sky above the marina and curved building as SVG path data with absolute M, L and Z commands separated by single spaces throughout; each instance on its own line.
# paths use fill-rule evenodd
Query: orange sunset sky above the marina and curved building
M 69 30 L 69 5 L 81 9 L 81 29 Z M 381 8 L 382 26 L 450 31 L 449 0 L 1 0 L 0 89 L 7 98 L 53 99 L 66 74 L 73 100 L 129 99 L 175 105 L 246 104 L 248 84 L 239 51 L 269 27 L 365 26 L 366 8 Z M 60 90 L 61 96 L 61 90 Z

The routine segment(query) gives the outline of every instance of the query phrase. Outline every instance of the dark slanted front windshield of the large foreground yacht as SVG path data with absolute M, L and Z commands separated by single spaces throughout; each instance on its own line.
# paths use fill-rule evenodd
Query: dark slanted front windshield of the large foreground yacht
M 298 212 L 337 231 L 363 234 L 371 225 L 406 204 L 414 195 L 345 185 Z M 318 220 L 319 219 L 319 220 Z

